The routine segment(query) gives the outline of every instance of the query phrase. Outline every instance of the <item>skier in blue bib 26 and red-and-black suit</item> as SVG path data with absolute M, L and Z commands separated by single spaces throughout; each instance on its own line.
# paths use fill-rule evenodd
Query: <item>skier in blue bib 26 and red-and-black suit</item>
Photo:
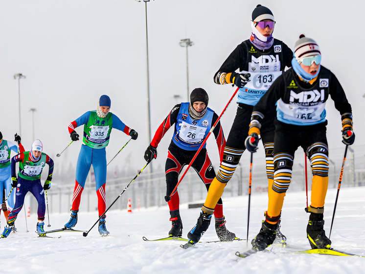
M 202 88 L 194 89 L 190 94 L 190 103 L 184 102 L 174 106 L 170 114 L 157 129 L 151 144 L 144 154 L 144 158 L 147 162 L 156 158 L 157 147 L 160 140 L 167 130 L 172 125 L 175 125 L 174 135 L 168 148 L 168 156 L 165 164 L 167 187 L 165 200 L 168 202 L 171 215 L 170 221 L 172 221 L 172 227 L 169 231 L 170 236 L 181 237 L 183 233 L 183 223 L 179 211 L 179 193 L 177 190 L 174 193 L 172 193 L 172 191 L 178 183 L 179 174 L 183 167 L 188 165 L 193 159 L 196 151 L 199 149 L 211 127 L 218 119 L 218 115 L 208 108 L 207 105 L 208 95 L 205 90 Z M 222 161 L 226 139 L 220 122 L 215 126 L 213 134 Z M 191 167 L 199 174 L 200 178 L 205 183 L 206 189 L 209 189 L 215 172 L 205 149 L 205 145 L 203 149 L 200 150 Z M 219 199 L 214 206 L 214 216 L 216 221 L 215 229 L 219 239 L 221 241 L 233 241 L 236 236 L 226 228 L 222 199 Z

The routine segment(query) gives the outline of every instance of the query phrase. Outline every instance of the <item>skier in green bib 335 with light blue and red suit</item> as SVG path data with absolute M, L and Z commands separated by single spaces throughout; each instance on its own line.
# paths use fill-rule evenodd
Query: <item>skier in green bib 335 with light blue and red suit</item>
M 79 140 L 75 128 L 84 125 L 83 144 L 80 149 L 76 166 L 76 182 L 72 196 L 71 218 L 66 228 L 74 227 L 77 223 L 82 191 L 90 171 L 91 165 L 95 174 L 95 186 L 98 199 L 99 217 L 106 210 L 105 184 L 107 180 L 107 160 L 105 148 L 109 144 L 112 128 L 123 131 L 136 140 L 138 133 L 125 125 L 115 114 L 110 112 L 111 100 L 109 96 L 102 95 L 96 110 L 88 111 L 68 125 L 68 132 L 72 141 Z M 108 235 L 105 226 L 105 215 L 99 221 L 100 235 Z

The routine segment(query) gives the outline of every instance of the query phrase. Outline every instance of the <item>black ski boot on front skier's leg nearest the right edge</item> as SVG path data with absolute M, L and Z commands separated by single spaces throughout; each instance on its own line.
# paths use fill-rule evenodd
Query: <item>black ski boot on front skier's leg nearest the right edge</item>
M 312 249 L 331 248 L 331 240 L 327 238 L 323 225 L 323 213 L 311 212 L 307 225 L 307 238 Z

